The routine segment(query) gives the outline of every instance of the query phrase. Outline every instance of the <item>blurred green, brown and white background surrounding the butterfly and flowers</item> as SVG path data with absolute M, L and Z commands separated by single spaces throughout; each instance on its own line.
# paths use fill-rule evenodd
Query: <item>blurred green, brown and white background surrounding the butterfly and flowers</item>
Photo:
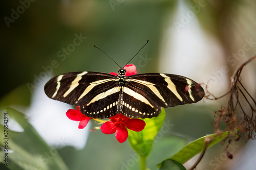
M 90 132 L 94 123 L 79 130 L 78 122 L 65 115 L 72 106 L 44 94 L 44 84 L 64 72 L 117 72 L 119 67 L 93 44 L 124 66 L 149 39 L 131 62 L 138 73 L 189 77 L 208 83 L 216 96 L 228 91 L 233 71 L 256 54 L 254 1 L 15 0 L 3 1 L 0 8 L 0 107 L 2 124 L 4 112 L 10 115 L 9 168 L 139 168 L 129 141 L 120 144 L 114 134 Z M 254 98 L 255 64 L 242 74 Z M 165 109 L 168 131 L 160 131 L 148 167 L 157 169 L 157 163 L 188 142 L 213 133 L 212 112 L 226 102 L 206 100 Z M 167 138 L 173 142 L 166 143 Z M 225 144 L 217 144 L 197 169 L 253 169 L 255 141 L 231 146 L 233 160 L 225 155 Z M 0 167 L 7 169 L 1 161 Z

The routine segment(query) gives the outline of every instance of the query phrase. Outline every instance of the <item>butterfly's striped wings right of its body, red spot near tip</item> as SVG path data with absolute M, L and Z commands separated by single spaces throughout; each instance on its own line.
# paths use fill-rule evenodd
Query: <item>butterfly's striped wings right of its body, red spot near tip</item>
M 159 115 L 161 107 L 196 103 L 203 96 L 200 84 L 183 76 L 159 73 L 127 76 L 123 114 L 151 118 Z

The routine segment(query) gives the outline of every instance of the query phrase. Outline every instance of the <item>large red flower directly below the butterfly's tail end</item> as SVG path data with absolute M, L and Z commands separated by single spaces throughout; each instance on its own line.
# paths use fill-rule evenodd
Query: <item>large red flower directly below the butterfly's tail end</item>
M 116 139 L 122 143 L 128 137 L 126 128 L 139 132 L 146 126 L 144 120 L 138 118 L 126 117 L 123 114 L 116 114 L 110 117 L 108 122 L 105 122 L 101 127 L 101 132 L 104 134 L 113 134 L 116 132 Z

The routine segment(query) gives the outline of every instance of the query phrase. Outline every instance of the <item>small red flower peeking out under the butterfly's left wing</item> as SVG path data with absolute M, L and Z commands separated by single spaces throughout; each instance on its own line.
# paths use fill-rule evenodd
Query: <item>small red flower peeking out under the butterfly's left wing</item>
M 91 117 L 87 117 L 86 115 L 82 114 L 79 110 L 79 106 L 76 107 L 77 110 L 75 109 L 69 109 L 66 113 L 69 119 L 74 120 L 74 121 L 80 121 L 78 128 L 83 129 L 84 127 L 87 126 L 89 120 Z

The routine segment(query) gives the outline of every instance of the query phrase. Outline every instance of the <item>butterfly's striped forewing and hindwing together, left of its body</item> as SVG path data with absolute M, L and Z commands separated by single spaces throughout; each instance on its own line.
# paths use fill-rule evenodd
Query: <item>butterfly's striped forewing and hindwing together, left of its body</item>
M 116 114 L 119 91 L 117 77 L 102 72 L 68 72 L 52 78 L 45 85 L 49 98 L 80 106 L 83 114 L 94 118 Z

